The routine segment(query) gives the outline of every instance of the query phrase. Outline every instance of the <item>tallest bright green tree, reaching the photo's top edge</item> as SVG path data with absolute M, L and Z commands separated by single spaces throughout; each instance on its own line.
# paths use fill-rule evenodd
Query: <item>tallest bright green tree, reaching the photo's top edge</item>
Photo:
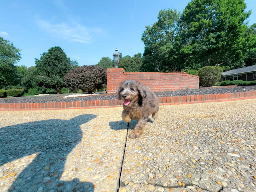
M 245 36 L 246 12 L 244 0 L 192 0 L 179 20 L 181 37 L 189 42 L 193 68 L 203 66 L 244 66 L 251 38 Z M 194 65 L 194 66 L 193 66 Z M 196 66 L 195 66 L 196 65 Z

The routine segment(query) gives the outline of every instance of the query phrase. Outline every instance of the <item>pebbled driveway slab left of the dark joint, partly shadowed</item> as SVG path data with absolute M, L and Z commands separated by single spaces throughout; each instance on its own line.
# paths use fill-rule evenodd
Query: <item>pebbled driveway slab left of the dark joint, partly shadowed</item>
M 117 191 L 127 136 L 120 114 L 0 111 L 0 191 Z

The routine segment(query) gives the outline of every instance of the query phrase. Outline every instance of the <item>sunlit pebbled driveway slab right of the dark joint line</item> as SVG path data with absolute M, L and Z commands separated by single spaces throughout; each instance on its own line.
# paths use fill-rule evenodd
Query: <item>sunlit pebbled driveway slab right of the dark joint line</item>
M 159 191 L 256 191 L 255 106 L 256 99 L 160 106 L 139 138 L 127 138 L 120 185 L 136 176 Z

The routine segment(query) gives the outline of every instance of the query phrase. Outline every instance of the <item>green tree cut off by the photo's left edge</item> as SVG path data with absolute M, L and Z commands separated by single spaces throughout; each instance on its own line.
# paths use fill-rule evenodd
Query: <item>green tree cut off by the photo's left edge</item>
M 14 64 L 21 59 L 21 49 L 0 37 L 0 88 L 17 83 L 17 68 Z

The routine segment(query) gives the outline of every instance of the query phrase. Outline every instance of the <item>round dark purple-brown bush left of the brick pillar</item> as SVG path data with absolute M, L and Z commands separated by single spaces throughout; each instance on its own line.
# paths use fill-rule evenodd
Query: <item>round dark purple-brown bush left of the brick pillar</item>
M 106 71 L 95 65 L 85 65 L 69 71 L 65 81 L 71 90 L 81 89 L 92 93 L 95 89 L 102 89 L 107 79 Z

